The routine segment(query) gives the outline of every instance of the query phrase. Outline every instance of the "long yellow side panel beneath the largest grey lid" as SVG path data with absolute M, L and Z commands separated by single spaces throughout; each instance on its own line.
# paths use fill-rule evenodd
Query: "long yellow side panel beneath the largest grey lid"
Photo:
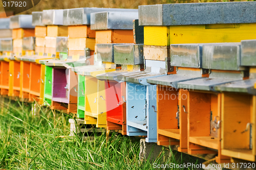
M 237 28 L 226 26 L 219 29 L 206 29 L 205 25 L 170 26 L 170 44 L 240 42 L 256 38 L 256 23 L 240 23 Z

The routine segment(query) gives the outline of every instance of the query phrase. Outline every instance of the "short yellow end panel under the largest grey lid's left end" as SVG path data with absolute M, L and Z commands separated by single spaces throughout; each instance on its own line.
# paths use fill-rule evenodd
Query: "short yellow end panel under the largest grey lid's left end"
M 145 45 L 170 45 L 169 26 L 144 26 Z

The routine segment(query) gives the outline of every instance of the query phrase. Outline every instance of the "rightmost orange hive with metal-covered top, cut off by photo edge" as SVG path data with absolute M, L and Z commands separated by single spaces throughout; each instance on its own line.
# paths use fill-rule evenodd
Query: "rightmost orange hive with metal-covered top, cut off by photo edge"
M 221 154 L 255 162 L 255 40 L 241 41 L 241 65 L 249 79 L 216 87 L 221 91 Z

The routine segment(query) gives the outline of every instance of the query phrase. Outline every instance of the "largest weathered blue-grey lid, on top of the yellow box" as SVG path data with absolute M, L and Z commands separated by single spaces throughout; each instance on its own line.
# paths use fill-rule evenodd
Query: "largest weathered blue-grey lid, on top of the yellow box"
M 139 6 L 140 26 L 256 22 L 256 2 L 186 3 Z

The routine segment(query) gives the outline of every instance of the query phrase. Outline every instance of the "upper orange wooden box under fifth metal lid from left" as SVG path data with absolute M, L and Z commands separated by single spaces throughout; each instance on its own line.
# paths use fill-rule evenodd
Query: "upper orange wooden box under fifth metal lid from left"
M 90 25 L 68 26 L 69 38 L 95 38 L 95 30 Z

